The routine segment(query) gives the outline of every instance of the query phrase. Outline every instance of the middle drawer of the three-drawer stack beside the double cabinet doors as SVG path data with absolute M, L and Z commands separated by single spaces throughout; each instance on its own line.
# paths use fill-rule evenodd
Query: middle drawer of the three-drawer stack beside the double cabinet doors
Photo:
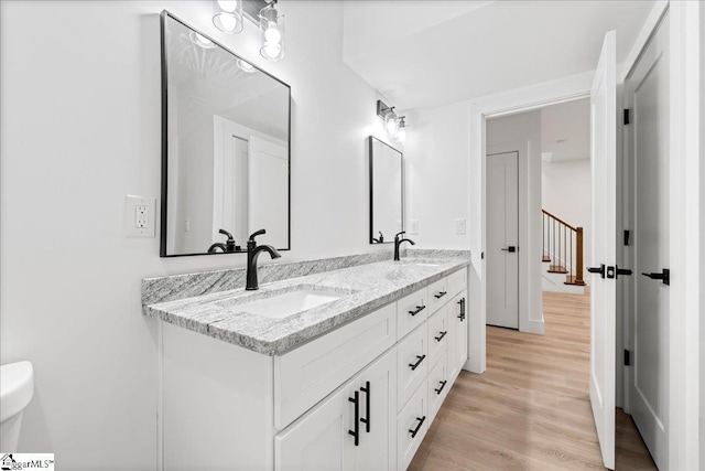
M 429 374 L 426 323 L 417 327 L 397 345 L 398 407 L 402 407 Z

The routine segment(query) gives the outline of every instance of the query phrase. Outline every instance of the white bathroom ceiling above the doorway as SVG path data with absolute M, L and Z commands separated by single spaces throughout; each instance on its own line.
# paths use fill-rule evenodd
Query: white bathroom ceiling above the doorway
M 399 109 L 589 72 L 605 33 L 617 61 L 652 0 L 345 0 L 344 60 Z

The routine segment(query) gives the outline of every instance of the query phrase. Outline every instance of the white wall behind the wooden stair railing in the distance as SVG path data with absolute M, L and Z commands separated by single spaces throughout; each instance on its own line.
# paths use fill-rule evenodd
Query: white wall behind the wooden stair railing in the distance
M 590 229 L 590 160 L 543 162 L 541 167 L 543 208 L 574 227 L 583 227 L 584 265 L 593 248 Z M 586 281 L 589 281 L 587 277 Z

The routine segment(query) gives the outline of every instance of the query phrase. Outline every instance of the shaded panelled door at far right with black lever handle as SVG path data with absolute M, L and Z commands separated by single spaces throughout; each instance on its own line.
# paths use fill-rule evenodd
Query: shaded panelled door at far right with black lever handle
M 661 469 L 668 464 L 669 17 L 627 81 L 629 149 L 634 165 L 634 317 L 631 415 Z

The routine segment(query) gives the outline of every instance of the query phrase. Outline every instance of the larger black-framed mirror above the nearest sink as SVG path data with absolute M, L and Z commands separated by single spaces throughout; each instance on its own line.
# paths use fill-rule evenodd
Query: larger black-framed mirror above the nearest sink
M 290 248 L 290 87 L 162 13 L 162 257 Z

